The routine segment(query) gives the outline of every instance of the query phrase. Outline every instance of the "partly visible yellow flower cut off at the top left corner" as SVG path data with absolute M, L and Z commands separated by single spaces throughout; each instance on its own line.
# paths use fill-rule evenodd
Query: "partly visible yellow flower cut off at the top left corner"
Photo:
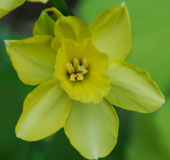
M 48 0 L 0 0 L 0 18 L 19 7 L 26 1 L 46 3 Z

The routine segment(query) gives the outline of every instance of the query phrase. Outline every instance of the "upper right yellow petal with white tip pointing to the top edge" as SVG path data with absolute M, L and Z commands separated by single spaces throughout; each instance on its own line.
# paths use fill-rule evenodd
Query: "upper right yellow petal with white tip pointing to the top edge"
M 110 60 L 124 60 L 131 45 L 131 25 L 126 6 L 118 5 L 104 11 L 90 26 L 96 47 Z

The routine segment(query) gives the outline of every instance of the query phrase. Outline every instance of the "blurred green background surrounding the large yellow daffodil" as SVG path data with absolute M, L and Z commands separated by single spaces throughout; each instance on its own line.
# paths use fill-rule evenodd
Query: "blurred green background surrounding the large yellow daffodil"
M 67 7 L 63 0 L 53 0 L 48 5 L 26 3 L 0 20 L 0 160 L 84 159 L 70 145 L 63 130 L 49 140 L 35 143 L 15 137 L 23 100 L 33 87 L 18 79 L 3 40 L 31 36 L 33 22 L 43 8 L 51 5 L 90 24 L 102 11 L 119 3 L 119 0 L 79 0 L 74 7 Z M 120 118 L 118 144 L 104 160 L 170 160 L 170 1 L 126 0 L 126 4 L 133 34 L 127 61 L 150 73 L 165 94 L 166 104 L 152 114 L 116 108 Z

